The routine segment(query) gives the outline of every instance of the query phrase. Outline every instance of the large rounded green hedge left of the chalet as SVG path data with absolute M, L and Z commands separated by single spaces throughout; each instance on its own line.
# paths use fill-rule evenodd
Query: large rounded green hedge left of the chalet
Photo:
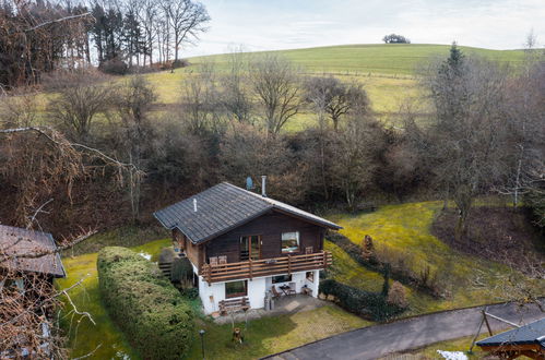
M 144 359 L 180 359 L 194 333 L 193 313 L 158 267 L 119 247 L 97 260 L 103 301 Z

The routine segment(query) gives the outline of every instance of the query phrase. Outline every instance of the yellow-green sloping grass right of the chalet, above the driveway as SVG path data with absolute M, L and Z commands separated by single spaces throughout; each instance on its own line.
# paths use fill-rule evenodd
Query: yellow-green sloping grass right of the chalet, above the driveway
M 505 293 L 494 289 L 501 281 L 498 275 L 509 274 L 507 266 L 462 254 L 430 233 L 433 220 L 440 208 L 440 202 L 408 203 L 383 206 L 375 213 L 333 214 L 329 217 L 344 227 L 341 233 L 353 242 L 359 244 L 365 235 L 370 235 L 378 251 L 388 249 L 396 252 L 416 274 L 429 266 L 431 273 L 442 280 L 450 293 L 446 299 L 437 300 L 407 288 L 410 310 L 403 315 L 505 300 Z M 343 251 L 334 244 L 327 243 L 325 247 L 333 251 L 335 261 L 342 260 L 342 265 L 336 265 L 339 271 L 333 272 L 335 279 L 370 291 L 380 288 L 382 279 L 378 274 L 363 268 L 345 253 L 343 255 Z M 486 287 L 473 286 L 471 280 L 476 276 L 479 276 Z M 545 291 L 543 281 L 528 281 L 533 286 L 544 287 Z

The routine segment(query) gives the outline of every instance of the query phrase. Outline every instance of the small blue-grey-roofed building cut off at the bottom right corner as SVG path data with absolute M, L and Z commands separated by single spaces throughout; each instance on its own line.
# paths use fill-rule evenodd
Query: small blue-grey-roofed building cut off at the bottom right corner
M 476 343 L 485 351 L 506 359 L 521 356 L 545 359 L 545 317 Z

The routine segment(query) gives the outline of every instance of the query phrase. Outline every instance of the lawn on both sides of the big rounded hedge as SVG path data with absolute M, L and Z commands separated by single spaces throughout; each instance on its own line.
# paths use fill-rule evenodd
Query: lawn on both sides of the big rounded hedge
M 123 233 L 134 235 L 142 233 L 142 231 L 121 228 L 97 235 L 88 241 L 102 245 L 120 244 L 121 239 L 116 236 Z M 133 241 L 137 240 L 130 240 L 130 243 Z M 161 249 L 169 244 L 170 239 L 162 239 L 132 249 L 151 254 L 152 261 L 156 261 Z M 87 249 L 92 249 L 88 247 L 92 245 L 87 245 Z M 84 356 L 99 346 L 93 353 L 94 359 L 139 359 L 138 353 L 131 349 L 122 333 L 109 319 L 100 301 L 96 257 L 96 252 L 64 257 L 68 277 L 57 281 L 58 287 L 67 288 L 84 279 L 81 286 L 70 291 L 70 297 L 79 311 L 91 313 L 96 322 L 96 325 L 93 325 L 87 319 L 82 319 L 80 322 L 78 315 L 72 319 L 72 314 L 62 314 L 61 326 L 70 333 L 71 357 Z M 197 326 L 199 329 L 206 331 L 206 358 L 254 359 L 368 324 L 370 323 L 335 305 L 327 305 L 307 312 L 250 321 L 248 328 L 245 329 L 246 343 L 244 345 L 234 345 L 230 341 L 230 325 L 216 325 L 201 314 Z M 244 324 L 237 324 L 237 326 L 245 328 Z M 201 344 L 196 334 L 188 358 L 200 357 Z

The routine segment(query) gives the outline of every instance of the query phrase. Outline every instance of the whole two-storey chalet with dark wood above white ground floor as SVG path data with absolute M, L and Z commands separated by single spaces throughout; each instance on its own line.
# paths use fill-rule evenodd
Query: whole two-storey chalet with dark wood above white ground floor
M 222 182 L 154 213 L 191 262 L 208 314 L 225 300 L 263 308 L 269 291 L 288 286 L 318 296 L 320 269 L 332 262 L 323 236 L 341 227 L 268 197 L 264 185 L 257 194 Z

